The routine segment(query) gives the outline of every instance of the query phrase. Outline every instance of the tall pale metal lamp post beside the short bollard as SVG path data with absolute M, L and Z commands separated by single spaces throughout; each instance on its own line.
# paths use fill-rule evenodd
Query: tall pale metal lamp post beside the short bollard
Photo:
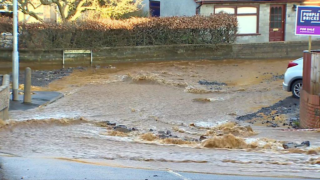
M 12 51 L 12 100 L 18 100 L 19 52 L 18 52 L 18 0 L 13 0 L 13 51 Z

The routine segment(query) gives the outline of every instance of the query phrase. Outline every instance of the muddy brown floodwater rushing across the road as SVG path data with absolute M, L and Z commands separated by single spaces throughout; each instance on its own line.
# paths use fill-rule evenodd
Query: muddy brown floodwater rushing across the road
M 185 140 L 198 139 L 207 128 L 236 121 L 237 116 L 290 96 L 282 90 L 282 80 L 267 82 L 283 74 L 287 64 L 288 60 L 168 61 L 112 64 L 115 69 L 106 64 L 75 71 L 43 88 L 64 93 L 57 102 L 35 110 L 11 111 L 9 125 L 0 129 L 0 151 L 146 169 L 320 177 L 320 165 L 314 163 L 320 158 L 316 132 L 252 126 L 255 135 L 240 132 L 222 141 L 214 138 L 225 136 L 211 139 L 214 145 L 228 142 L 234 149 L 141 138 L 153 129 L 154 134 L 170 130 Z M 227 86 L 199 85 L 202 79 Z M 110 127 L 94 125 L 105 120 L 138 131 L 120 136 L 110 133 Z M 214 130 L 217 132 L 220 130 Z M 279 142 L 306 140 L 310 147 L 290 151 Z M 259 145 L 240 149 L 238 143 L 241 147 L 244 143 Z

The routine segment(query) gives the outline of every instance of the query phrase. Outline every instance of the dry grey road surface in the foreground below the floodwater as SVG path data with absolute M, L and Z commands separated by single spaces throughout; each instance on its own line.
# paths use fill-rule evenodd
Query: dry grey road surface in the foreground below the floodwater
M 2 179 L 289 179 L 110 167 L 54 158 L 0 155 Z

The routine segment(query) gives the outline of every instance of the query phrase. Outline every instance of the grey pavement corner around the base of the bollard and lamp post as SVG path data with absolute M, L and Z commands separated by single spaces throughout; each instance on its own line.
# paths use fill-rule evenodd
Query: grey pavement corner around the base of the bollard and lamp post
M 23 91 L 19 91 L 23 92 Z M 35 94 L 31 95 L 31 103 L 23 103 L 23 95 L 19 94 L 18 101 L 12 101 L 10 95 L 9 111 L 11 110 L 28 110 L 39 106 L 45 106 L 57 99 L 63 97 L 63 94 L 56 91 L 31 91 Z

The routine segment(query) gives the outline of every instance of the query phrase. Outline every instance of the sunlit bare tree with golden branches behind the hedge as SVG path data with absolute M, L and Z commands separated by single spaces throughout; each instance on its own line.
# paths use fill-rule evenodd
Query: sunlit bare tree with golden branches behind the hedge
M 12 0 L 0 0 L 3 3 L 12 4 Z M 39 21 L 37 9 L 42 5 L 56 6 L 62 21 L 76 20 L 88 11 L 95 17 L 116 18 L 143 7 L 142 0 L 18 0 L 18 5 L 21 12 Z

